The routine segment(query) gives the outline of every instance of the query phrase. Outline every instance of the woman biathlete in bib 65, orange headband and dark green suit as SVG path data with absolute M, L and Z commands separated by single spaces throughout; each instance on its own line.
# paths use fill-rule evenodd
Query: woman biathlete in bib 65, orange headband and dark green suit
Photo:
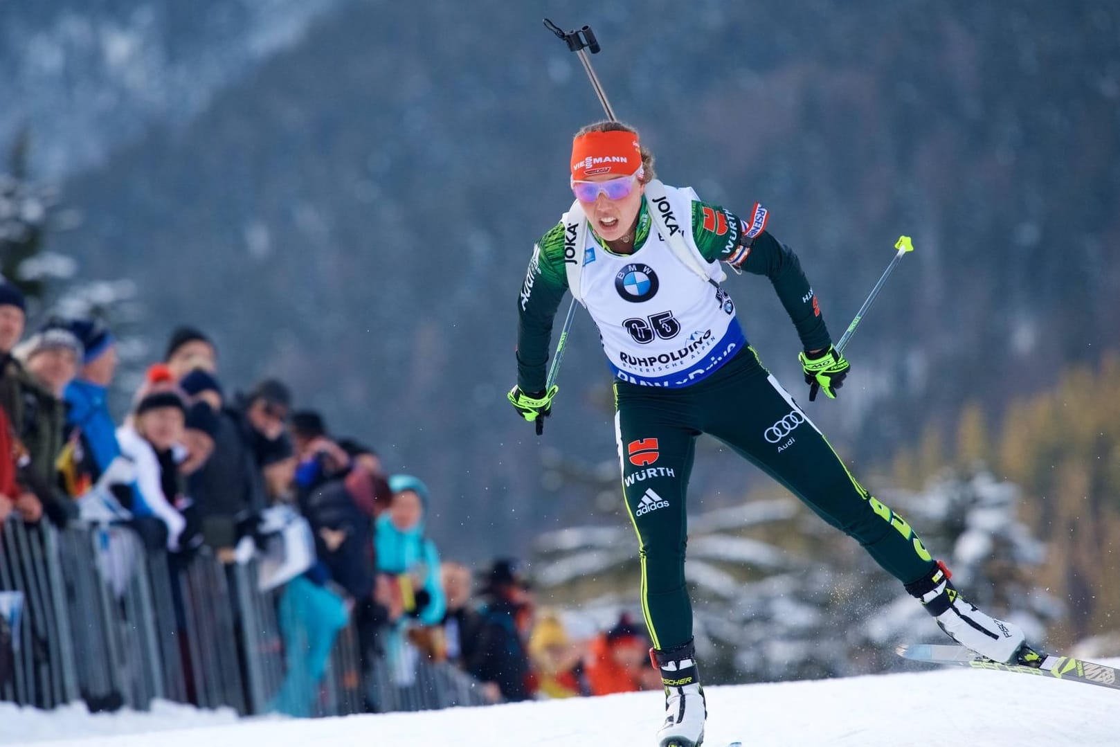
M 684 582 L 685 489 L 700 433 L 855 538 L 956 642 L 997 662 L 1036 655 L 1018 627 L 960 596 L 945 566 L 852 477 L 748 345 L 718 284 L 720 263 L 773 283 L 801 337 L 806 383 L 834 398 L 848 375 L 797 258 L 766 231 L 766 208 L 756 204 L 743 220 L 691 189 L 662 185 L 638 133 L 618 122 L 576 134 L 571 187 L 576 202 L 536 242 L 517 298 L 517 385 L 508 399 L 530 422 L 550 413 L 552 320 L 571 291 L 598 326 L 615 374 L 623 493 L 638 539 L 652 659 L 665 687 L 659 745 L 700 745 L 707 716 Z

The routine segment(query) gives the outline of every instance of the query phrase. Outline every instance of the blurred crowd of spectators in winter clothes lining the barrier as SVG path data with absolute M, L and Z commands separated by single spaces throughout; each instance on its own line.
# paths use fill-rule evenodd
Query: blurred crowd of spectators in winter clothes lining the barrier
M 273 585 L 287 665 L 301 676 L 284 680 L 274 710 L 309 715 L 351 622 L 363 666 L 388 662 L 401 683 L 409 656 L 424 656 L 476 678 L 493 702 L 661 687 L 627 616 L 572 641 L 515 561 L 477 573 L 441 562 L 424 525 L 438 497 L 420 477 L 391 474 L 362 440 L 297 410 L 281 381 L 231 390 L 205 333 L 174 330 L 119 420 L 111 330 L 52 318 L 25 334 L 25 315 L 20 290 L 0 281 L 0 524 L 123 524 L 175 572 L 199 551 L 224 562 L 246 542 L 264 551 L 272 510 L 298 515 L 314 548 Z

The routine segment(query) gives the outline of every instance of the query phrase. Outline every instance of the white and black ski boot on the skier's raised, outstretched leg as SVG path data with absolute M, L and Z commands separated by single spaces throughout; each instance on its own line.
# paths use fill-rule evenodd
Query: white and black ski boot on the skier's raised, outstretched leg
M 1039 654 L 1027 646 L 1019 626 L 980 611 L 960 595 L 949 580 L 951 577 L 939 560 L 930 576 L 907 583 L 906 591 L 920 599 L 937 626 L 965 648 L 1001 664 L 1038 666 L 1042 663 Z

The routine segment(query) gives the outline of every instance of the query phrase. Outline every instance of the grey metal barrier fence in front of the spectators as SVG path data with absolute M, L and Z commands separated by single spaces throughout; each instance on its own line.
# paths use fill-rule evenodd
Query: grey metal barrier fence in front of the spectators
M 206 549 L 186 562 L 146 550 L 128 526 L 56 531 L 10 516 L 0 531 L 6 590 L 25 605 L 0 700 L 143 710 L 161 698 L 252 715 L 280 707 L 299 674 L 286 653 L 302 652 L 284 652 L 277 613 L 283 589 L 259 591 L 255 562 L 223 563 Z M 487 702 L 467 674 L 389 639 L 384 656 L 363 656 L 351 622 L 334 637 L 321 680 L 289 693 L 308 693 L 309 716 Z

